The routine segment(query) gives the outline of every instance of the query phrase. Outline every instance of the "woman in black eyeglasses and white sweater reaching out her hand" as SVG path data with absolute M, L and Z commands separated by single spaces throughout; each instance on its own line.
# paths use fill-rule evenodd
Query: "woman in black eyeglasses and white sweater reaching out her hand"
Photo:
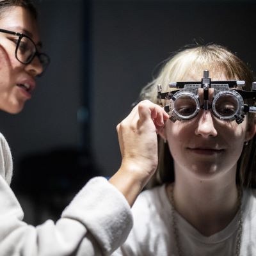
M 41 45 L 31 1 L 0 0 L 1 110 L 19 113 L 32 97 L 35 77 L 49 62 Z M 22 221 L 22 209 L 10 188 L 12 156 L 0 133 L 1 255 L 108 255 L 124 242 L 132 227 L 130 206 L 156 170 L 157 157 L 148 157 L 157 151 L 156 132 L 168 118 L 148 101 L 136 106 L 132 115 L 118 126 L 123 156 L 118 172 L 109 182 L 102 177 L 90 180 L 56 224 L 49 220 L 38 227 Z M 138 122 L 139 116 L 143 122 Z

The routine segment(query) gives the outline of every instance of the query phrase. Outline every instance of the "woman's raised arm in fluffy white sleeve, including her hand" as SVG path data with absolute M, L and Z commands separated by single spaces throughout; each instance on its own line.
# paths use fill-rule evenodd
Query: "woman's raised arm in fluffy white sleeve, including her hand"
M 109 255 L 124 243 L 132 227 L 130 206 L 157 166 L 156 134 L 168 115 L 148 100 L 141 102 L 118 127 L 122 165 L 108 181 L 88 182 L 56 223 L 33 227 L 9 182 L 12 156 L 1 135 L 0 252 L 3 256 Z M 7 182 L 8 183 L 7 183 Z

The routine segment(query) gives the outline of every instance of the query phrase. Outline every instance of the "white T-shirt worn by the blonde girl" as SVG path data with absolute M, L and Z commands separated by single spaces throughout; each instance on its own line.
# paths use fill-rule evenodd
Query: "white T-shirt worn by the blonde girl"
M 177 256 L 172 226 L 172 204 L 165 186 L 141 193 L 132 207 L 134 227 L 113 255 Z M 242 202 L 243 233 L 240 256 L 256 255 L 256 193 L 245 190 Z M 239 214 L 220 232 L 203 236 L 176 212 L 182 256 L 235 256 Z

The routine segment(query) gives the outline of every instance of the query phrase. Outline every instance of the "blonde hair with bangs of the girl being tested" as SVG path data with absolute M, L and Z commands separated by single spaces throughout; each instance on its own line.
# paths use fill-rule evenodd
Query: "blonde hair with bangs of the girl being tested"
M 252 71 L 235 54 L 226 47 L 216 44 L 189 45 L 175 52 L 168 60 L 164 61 L 159 75 L 145 86 L 140 93 L 140 100 L 149 99 L 159 103 L 157 99 L 156 85 L 161 84 L 163 92 L 168 92 L 168 84 L 173 81 L 184 81 L 189 74 L 198 75 L 198 70 L 210 70 L 211 72 L 222 72 L 227 79 L 244 80 L 246 85 L 243 90 L 251 90 L 253 82 Z M 202 76 L 201 76 L 202 77 Z M 198 77 L 198 81 L 200 78 Z M 250 104 L 254 104 L 250 100 Z M 249 123 L 254 122 L 254 115 L 249 115 Z M 173 159 L 167 144 L 158 138 L 159 164 L 155 175 L 150 180 L 148 187 L 157 186 L 166 182 L 173 182 L 174 168 Z M 255 148 L 256 140 L 253 138 L 237 162 L 237 184 L 245 187 L 256 185 L 255 175 Z M 250 164 L 249 164 L 250 163 Z

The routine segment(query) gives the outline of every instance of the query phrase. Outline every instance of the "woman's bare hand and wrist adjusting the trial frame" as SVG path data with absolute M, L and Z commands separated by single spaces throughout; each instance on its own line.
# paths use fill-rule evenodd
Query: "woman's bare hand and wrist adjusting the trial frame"
M 160 106 L 143 100 L 117 125 L 122 164 L 109 180 L 130 205 L 157 168 L 157 133 L 168 114 Z

